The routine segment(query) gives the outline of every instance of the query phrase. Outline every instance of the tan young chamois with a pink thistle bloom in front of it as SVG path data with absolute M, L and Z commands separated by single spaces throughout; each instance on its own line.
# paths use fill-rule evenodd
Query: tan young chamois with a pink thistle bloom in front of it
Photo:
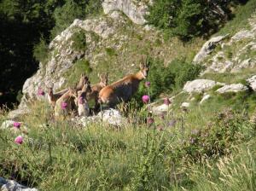
M 67 115 L 73 112 L 74 100 L 77 99 L 78 93 L 76 89 L 69 88 L 55 103 L 55 117 Z

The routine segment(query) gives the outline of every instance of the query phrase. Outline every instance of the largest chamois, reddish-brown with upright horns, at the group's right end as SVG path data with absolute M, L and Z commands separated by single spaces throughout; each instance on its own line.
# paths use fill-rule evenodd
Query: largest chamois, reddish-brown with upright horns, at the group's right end
M 109 107 L 114 107 L 121 101 L 129 101 L 131 96 L 137 92 L 139 83 L 147 78 L 148 63 L 142 60 L 140 71 L 135 74 L 125 76 L 113 84 L 102 88 L 99 93 L 99 102 L 106 103 Z

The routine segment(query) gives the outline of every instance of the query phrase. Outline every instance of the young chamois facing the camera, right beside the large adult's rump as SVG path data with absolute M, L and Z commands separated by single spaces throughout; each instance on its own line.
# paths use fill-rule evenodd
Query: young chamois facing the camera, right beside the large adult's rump
M 91 85 L 91 92 L 87 94 L 87 100 L 95 101 L 95 107 L 94 107 L 95 112 L 99 109 L 99 103 L 98 103 L 99 92 L 100 90 L 102 90 L 102 88 L 108 85 L 108 73 L 98 74 L 98 77 L 100 78 L 100 82 L 98 84 Z

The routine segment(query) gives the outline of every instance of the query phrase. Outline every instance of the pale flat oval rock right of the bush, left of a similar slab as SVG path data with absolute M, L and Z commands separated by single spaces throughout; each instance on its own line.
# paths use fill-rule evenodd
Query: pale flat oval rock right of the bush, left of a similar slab
M 189 94 L 191 93 L 200 93 L 205 90 L 212 89 L 215 85 L 224 85 L 223 83 L 218 83 L 210 79 L 195 79 L 193 81 L 187 82 L 183 90 L 188 92 Z

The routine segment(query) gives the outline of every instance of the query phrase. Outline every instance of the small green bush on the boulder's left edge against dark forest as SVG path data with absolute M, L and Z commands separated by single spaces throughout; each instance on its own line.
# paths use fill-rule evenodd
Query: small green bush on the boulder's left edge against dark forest
M 44 62 L 48 58 L 48 44 L 45 42 L 44 38 L 40 38 L 40 42 L 34 46 L 33 56 L 37 61 Z

